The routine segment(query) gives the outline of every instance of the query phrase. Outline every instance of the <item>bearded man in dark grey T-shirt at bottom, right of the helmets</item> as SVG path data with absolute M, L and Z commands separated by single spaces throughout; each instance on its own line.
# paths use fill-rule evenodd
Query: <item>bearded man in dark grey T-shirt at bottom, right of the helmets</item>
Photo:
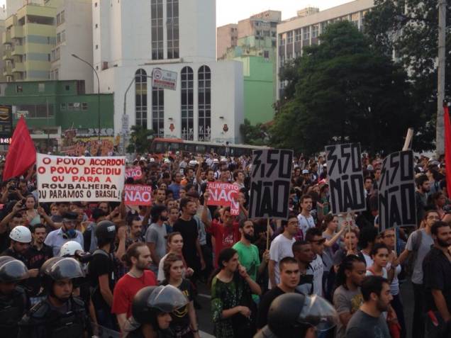
M 381 276 L 367 276 L 360 286 L 363 304 L 347 324 L 346 338 L 390 338 L 384 317 L 393 297 L 390 284 Z

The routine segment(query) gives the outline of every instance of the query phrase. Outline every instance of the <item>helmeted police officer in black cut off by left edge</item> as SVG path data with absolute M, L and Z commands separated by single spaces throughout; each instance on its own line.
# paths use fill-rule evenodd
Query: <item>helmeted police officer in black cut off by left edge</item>
M 13 257 L 0 257 L 0 337 L 16 338 L 17 322 L 28 310 L 28 298 L 18 281 L 28 277 L 23 262 Z

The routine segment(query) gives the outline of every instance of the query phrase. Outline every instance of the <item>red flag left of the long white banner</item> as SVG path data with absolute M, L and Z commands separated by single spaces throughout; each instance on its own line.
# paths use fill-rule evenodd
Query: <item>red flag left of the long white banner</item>
M 18 120 L 6 154 L 3 181 L 24 174 L 36 162 L 36 149 L 23 119 Z

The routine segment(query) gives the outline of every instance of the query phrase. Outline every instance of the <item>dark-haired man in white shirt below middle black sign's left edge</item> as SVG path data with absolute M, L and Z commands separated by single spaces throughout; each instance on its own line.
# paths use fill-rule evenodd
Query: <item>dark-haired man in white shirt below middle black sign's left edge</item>
M 324 252 L 323 232 L 318 227 L 311 227 L 307 230 L 306 241 L 311 244 L 311 249 L 315 254 L 315 258 L 311 262 L 311 268 L 313 270 L 313 293 L 315 295 L 323 296 L 323 272 L 324 264 L 321 257 Z

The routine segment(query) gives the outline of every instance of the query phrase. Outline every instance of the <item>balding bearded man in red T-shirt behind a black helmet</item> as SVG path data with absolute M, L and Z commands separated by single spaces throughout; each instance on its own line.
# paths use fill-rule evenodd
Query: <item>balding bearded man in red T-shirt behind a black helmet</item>
M 147 270 L 151 259 L 149 248 L 145 243 L 137 242 L 131 244 L 127 249 L 124 260 L 130 271 L 116 283 L 113 293 L 113 308 L 111 308 L 111 312 L 118 319 L 122 332 L 126 320 L 131 316 L 135 294 L 146 286 L 157 285 L 155 274 Z

